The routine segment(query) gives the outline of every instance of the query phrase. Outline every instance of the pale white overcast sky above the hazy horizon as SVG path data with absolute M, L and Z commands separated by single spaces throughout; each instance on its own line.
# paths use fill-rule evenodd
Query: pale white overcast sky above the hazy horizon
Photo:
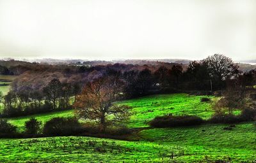
M 0 57 L 256 59 L 255 0 L 0 0 Z

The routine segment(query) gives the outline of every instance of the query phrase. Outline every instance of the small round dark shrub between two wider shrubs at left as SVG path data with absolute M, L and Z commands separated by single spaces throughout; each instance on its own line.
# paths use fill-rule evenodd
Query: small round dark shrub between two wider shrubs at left
M 38 134 L 41 124 L 42 122 L 36 120 L 36 118 L 30 118 L 27 122 L 25 122 L 26 133 Z

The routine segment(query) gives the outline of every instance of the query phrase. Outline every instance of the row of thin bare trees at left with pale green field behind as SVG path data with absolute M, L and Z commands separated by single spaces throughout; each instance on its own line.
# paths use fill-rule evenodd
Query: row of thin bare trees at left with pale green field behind
M 81 90 L 78 83 L 61 83 L 53 79 L 42 91 L 27 89 L 26 91 L 10 90 L 6 96 L 1 94 L 0 102 L 4 110 L 1 117 L 17 117 L 35 113 L 45 113 L 72 108 L 72 98 Z M 74 101 L 74 100 L 73 100 Z

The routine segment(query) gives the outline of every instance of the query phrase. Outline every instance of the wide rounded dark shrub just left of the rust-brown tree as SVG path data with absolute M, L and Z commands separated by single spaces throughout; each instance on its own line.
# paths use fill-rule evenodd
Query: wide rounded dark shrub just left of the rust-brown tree
M 44 134 L 47 136 L 76 135 L 82 127 L 76 118 L 52 118 L 44 125 Z

